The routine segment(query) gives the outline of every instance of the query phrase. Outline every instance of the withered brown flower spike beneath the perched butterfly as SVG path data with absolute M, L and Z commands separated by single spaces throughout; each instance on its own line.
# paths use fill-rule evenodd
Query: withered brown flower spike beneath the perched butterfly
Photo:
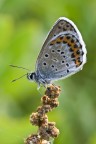
M 60 91 L 60 87 L 54 85 L 47 87 L 45 95 L 41 98 L 42 105 L 30 116 L 30 123 L 38 126 L 38 133 L 30 135 L 25 140 L 25 144 L 50 144 L 50 139 L 54 139 L 59 135 L 59 130 L 55 127 L 55 122 L 48 122 L 46 113 L 59 106 L 58 97 Z

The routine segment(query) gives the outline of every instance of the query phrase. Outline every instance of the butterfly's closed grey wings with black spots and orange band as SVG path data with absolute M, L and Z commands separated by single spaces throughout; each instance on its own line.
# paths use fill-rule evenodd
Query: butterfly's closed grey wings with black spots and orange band
M 36 63 L 36 72 L 45 80 L 65 78 L 86 62 L 86 48 L 75 24 L 60 18 L 49 32 Z

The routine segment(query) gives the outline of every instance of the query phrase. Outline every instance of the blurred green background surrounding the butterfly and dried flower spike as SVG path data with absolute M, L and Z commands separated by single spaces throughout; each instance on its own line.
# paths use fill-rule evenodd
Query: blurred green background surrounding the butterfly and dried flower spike
M 87 63 L 79 73 L 56 82 L 60 106 L 48 114 L 60 135 L 54 144 L 96 144 L 96 0 L 0 0 L 0 144 L 23 144 L 37 127 L 29 122 L 44 88 L 22 78 L 34 71 L 45 37 L 61 16 L 74 21 L 87 47 Z

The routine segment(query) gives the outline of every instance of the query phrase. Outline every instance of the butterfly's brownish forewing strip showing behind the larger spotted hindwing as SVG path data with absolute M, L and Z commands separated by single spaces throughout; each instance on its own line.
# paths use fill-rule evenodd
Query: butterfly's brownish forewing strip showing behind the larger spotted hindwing
M 69 19 L 65 18 L 65 17 L 61 17 L 59 18 L 56 23 L 54 24 L 54 26 L 52 27 L 52 29 L 50 30 L 50 32 L 48 33 L 48 36 L 42 46 L 42 49 L 39 53 L 39 56 L 37 58 L 37 63 L 38 63 L 38 59 L 41 58 L 41 55 L 42 55 L 42 51 L 45 49 L 46 45 L 48 44 L 48 42 L 50 40 L 52 40 L 52 38 L 54 38 L 55 36 L 57 36 L 58 34 L 60 33 L 63 33 L 63 32 L 67 32 L 67 31 L 71 31 L 73 33 L 76 34 L 76 36 L 78 37 L 78 34 L 77 34 L 77 28 L 75 26 L 74 28 L 74 24 L 72 21 L 70 21 Z

